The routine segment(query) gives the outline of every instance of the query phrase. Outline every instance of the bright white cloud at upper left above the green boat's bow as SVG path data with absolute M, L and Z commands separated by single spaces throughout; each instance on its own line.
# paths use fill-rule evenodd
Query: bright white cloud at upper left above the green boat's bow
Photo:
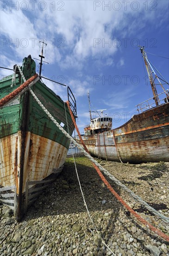
M 6 20 L 11 20 L 10 26 Z M 40 22 L 40 20 L 38 20 Z M 39 23 L 38 23 L 39 24 Z M 41 25 L 41 24 L 40 24 Z M 39 40 L 45 39 L 48 42 L 47 51 L 48 60 L 50 63 L 54 61 L 61 60 L 61 54 L 57 47 L 53 47 L 53 41 L 48 40 L 46 37 L 47 30 L 42 29 L 42 27 L 36 23 L 32 23 L 24 12 L 20 9 L 15 11 L 14 9 L 10 11 L 1 11 L 0 18 L 0 31 L 3 36 L 1 36 L 1 48 L 6 46 L 13 50 L 15 59 L 20 60 L 31 54 L 32 58 L 38 57 L 41 53 L 41 48 L 39 47 Z M 45 32 L 44 32 L 45 31 Z M 44 48 L 45 52 L 45 48 Z M 6 63 L 7 65 L 7 63 Z

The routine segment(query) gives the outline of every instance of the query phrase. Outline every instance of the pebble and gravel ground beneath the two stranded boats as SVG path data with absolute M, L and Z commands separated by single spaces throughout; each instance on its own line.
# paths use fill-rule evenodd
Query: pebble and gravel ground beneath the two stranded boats
M 169 163 L 131 165 L 99 161 L 120 182 L 169 217 Z M 94 229 L 84 206 L 75 166 L 67 158 L 62 174 L 17 223 L 0 206 L 0 256 L 169 256 L 169 243 L 138 222 L 100 180 L 89 160 L 76 158 L 81 188 Z M 169 225 L 153 216 L 107 178 L 115 191 L 140 216 L 169 236 Z

